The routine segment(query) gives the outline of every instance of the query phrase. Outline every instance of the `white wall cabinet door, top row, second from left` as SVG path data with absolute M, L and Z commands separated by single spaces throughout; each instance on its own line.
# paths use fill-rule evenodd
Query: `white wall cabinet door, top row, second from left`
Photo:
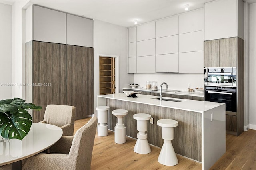
M 156 22 L 149 22 L 137 26 L 137 41 L 156 38 Z

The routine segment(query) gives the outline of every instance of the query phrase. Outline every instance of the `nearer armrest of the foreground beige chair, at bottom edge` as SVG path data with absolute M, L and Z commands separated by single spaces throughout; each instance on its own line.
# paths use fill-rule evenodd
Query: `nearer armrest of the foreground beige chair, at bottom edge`
M 66 154 L 36 154 L 22 160 L 22 169 L 71 169 Z

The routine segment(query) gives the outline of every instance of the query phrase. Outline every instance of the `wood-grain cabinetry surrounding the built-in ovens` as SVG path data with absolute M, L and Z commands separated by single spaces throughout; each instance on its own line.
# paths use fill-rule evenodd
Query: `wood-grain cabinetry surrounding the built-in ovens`
M 226 133 L 244 131 L 244 40 L 239 37 L 204 42 L 204 67 L 236 67 L 237 112 L 226 113 Z

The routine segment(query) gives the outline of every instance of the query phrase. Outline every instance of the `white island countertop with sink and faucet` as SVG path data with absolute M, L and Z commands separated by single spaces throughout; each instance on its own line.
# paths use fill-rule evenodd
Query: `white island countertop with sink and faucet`
M 117 94 L 110 94 L 110 95 L 98 95 L 98 97 L 104 97 L 108 99 L 116 99 L 122 101 L 130 101 L 135 103 L 142 103 L 148 105 L 155 105 L 161 107 L 170 107 L 174 109 L 181 109 L 186 111 L 194 111 L 194 112 L 201 112 L 208 111 L 220 105 L 225 105 L 224 103 L 215 103 L 209 101 L 198 101 L 198 100 L 188 100 L 188 99 L 177 99 L 177 98 L 170 98 L 170 97 L 163 97 L 168 99 L 174 100 L 182 100 L 182 102 L 173 102 L 173 101 L 159 101 L 155 98 L 156 96 L 151 95 L 140 95 L 137 94 L 138 97 L 132 98 L 127 97 L 124 93 L 117 93 Z

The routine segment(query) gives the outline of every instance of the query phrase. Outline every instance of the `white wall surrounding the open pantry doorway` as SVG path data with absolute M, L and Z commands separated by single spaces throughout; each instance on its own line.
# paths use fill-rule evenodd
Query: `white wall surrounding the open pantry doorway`
M 98 93 L 98 55 L 119 56 L 119 92 L 133 81 L 127 73 L 127 28 L 94 20 L 94 111 Z

